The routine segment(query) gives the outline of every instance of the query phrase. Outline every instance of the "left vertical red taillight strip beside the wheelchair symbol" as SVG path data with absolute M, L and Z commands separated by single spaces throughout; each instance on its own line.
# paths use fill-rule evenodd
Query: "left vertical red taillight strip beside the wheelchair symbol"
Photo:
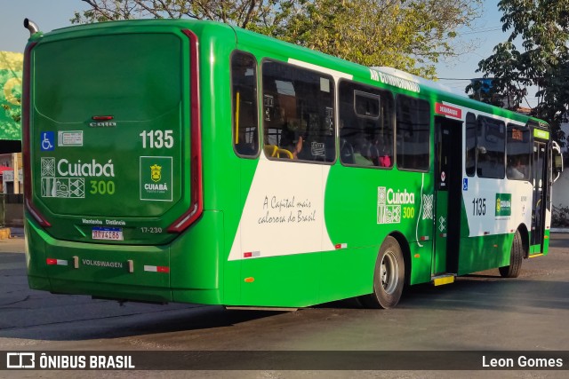
M 36 43 L 29 43 L 24 52 L 24 80 L 23 80 L 23 91 L 22 91 L 22 103 L 21 103 L 21 124 L 22 124 L 22 155 L 24 161 L 24 199 L 26 204 L 26 209 L 28 212 L 36 218 L 39 225 L 44 227 L 52 226 L 45 217 L 34 207 L 32 203 L 32 164 L 30 155 L 30 125 L 29 125 L 29 113 L 31 112 L 31 53 L 32 49 L 36 46 Z

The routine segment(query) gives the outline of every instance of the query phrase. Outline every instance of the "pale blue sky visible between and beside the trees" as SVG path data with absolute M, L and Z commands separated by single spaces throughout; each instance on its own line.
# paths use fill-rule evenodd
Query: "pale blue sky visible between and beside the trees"
M 507 39 L 501 31 L 501 12 L 499 0 L 484 0 L 482 17 L 475 21 L 473 28 L 461 29 L 462 40 L 475 48 L 458 58 L 437 64 L 439 83 L 464 94 L 470 78 L 481 77 L 477 64 L 492 54 L 493 47 Z M 23 52 L 28 41 L 28 30 L 23 20 L 33 20 L 43 32 L 71 25 L 69 21 L 76 11 L 87 9 L 81 0 L 0 0 L 0 51 Z M 534 91 L 530 91 L 528 101 L 534 105 Z M 526 104 L 523 106 L 527 106 Z

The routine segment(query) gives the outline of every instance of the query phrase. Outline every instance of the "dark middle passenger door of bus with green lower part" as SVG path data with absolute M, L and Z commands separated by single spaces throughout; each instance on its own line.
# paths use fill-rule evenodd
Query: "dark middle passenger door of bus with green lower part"
M 435 219 L 431 274 L 458 272 L 461 237 L 462 122 L 435 117 Z

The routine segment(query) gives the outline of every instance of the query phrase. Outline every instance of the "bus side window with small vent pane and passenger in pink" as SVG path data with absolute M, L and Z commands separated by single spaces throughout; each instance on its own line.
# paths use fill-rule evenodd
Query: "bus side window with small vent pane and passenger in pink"
M 341 162 L 360 167 L 392 167 L 391 93 L 342 80 L 339 96 Z

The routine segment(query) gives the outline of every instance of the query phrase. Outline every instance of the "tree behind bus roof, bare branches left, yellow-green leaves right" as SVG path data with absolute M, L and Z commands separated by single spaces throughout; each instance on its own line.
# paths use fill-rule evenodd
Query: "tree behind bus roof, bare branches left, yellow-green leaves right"
M 433 77 L 465 52 L 457 30 L 482 0 L 82 0 L 75 23 L 134 18 L 218 20 L 349 59 Z

